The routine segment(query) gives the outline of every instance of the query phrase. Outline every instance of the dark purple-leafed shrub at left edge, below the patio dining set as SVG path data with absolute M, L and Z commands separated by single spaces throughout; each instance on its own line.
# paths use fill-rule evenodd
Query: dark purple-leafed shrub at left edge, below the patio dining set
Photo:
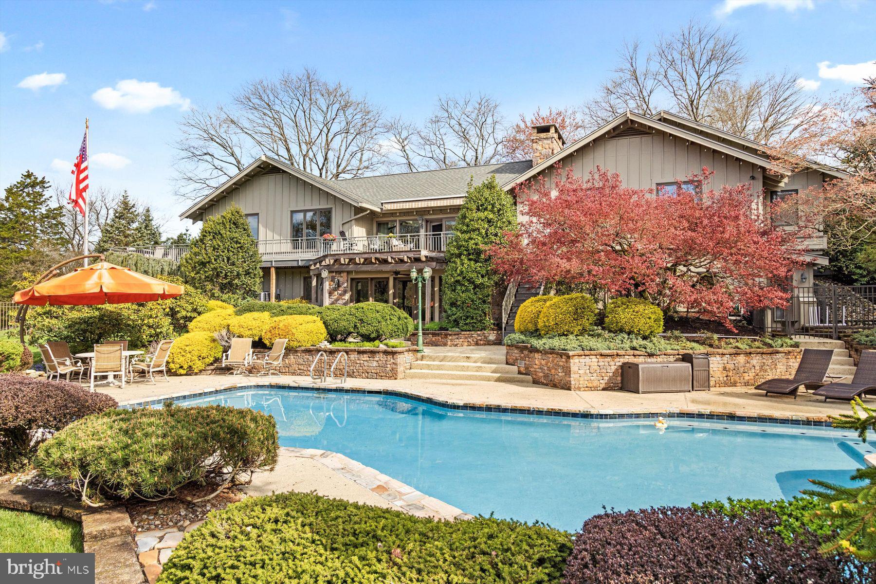
M 22 468 L 46 439 L 88 414 L 117 407 L 105 393 L 78 383 L 21 375 L 0 376 L 0 472 Z

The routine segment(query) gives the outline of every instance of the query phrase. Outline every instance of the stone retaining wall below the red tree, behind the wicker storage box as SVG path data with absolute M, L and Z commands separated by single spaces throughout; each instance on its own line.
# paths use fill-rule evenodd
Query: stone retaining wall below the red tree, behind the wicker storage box
M 641 351 L 548 351 L 529 345 L 506 347 L 505 362 L 532 376 L 534 383 L 573 391 L 620 389 L 624 362 L 681 361 L 689 351 L 647 355 Z M 773 377 L 793 377 L 800 362 L 799 348 L 750 348 L 696 351 L 710 357 L 712 389 L 752 387 Z

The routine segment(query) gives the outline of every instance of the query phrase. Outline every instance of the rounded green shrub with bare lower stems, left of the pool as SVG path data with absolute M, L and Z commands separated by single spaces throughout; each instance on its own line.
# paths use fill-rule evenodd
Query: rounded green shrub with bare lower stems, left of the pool
M 269 470 L 277 426 L 262 412 L 223 405 L 113 410 L 81 419 L 39 447 L 34 464 L 67 479 L 82 501 L 154 500 L 189 483 L 242 484 Z

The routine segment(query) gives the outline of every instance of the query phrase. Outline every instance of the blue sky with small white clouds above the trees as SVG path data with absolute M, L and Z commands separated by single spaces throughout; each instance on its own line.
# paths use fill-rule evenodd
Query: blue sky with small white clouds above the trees
M 876 59 L 876 2 L 0 0 L 0 183 L 27 169 L 66 183 L 88 116 L 91 184 L 127 188 L 175 233 L 176 123 L 245 81 L 307 66 L 390 116 L 484 92 L 512 119 L 584 102 L 624 39 L 691 17 L 738 32 L 746 74 L 789 68 L 816 94 L 853 87 L 860 67 L 837 66 Z

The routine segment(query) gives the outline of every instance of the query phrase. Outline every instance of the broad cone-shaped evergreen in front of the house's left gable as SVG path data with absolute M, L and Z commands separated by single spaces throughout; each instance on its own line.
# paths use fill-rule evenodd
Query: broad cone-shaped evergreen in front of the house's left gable
M 180 261 L 186 284 L 209 296 L 254 298 L 262 290 L 262 257 L 244 212 L 232 205 L 209 217 Z

